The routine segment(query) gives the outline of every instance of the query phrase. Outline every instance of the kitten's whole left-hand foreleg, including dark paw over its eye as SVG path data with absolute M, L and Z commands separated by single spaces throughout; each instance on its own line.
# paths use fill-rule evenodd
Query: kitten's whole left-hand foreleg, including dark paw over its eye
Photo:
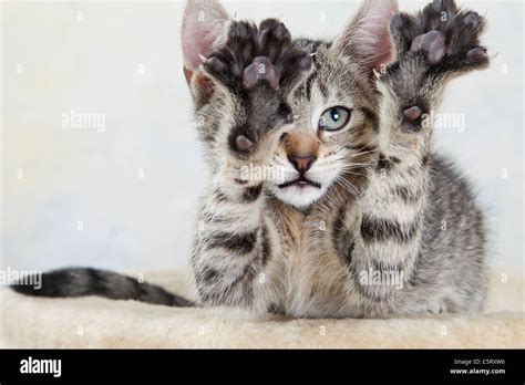
M 275 285 L 266 280 L 276 274 L 261 274 L 280 250 L 275 225 L 265 215 L 265 179 L 271 178 L 269 158 L 291 119 L 288 94 L 308 76 L 312 60 L 292 44 L 281 22 L 267 19 L 259 27 L 233 21 L 228 40 L 203 65 L 227 90 L 231 122 L 227 117 L 224 123 L 227 135 L 218 134 L 219 169 L 200 210 L 193 250 L 200 301 L 267 311 Z

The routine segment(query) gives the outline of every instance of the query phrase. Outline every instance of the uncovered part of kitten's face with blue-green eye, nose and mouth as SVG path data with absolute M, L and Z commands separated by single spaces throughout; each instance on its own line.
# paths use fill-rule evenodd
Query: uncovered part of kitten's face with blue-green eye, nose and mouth
M 270 190 L 298 208 L 334 185 L 352 190 L 348 176 L 363 173 L 375 142 L 377 96 L 367 75 L 337 49 L 321 46 L 316 58 L 316 72 L 291 95 L 294 121 L 271 158 L 280 178 Z

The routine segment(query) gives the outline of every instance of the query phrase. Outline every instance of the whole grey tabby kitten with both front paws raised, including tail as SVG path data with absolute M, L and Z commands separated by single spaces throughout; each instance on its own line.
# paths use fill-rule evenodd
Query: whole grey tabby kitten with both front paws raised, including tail
M 484 27 L 454 1 L 414 15 L 364 1 L 334 41 L 291 40 L 276 20 L 256 27 L 188 1 L 185 75 L 210 169 L 192 256 L 198 304 L 312 318 L 478 311 L 483 216 L 433 150 L 432 113 L 450 79 L 488 65 Z M 13 289 L 191 304 L 89 269 Z

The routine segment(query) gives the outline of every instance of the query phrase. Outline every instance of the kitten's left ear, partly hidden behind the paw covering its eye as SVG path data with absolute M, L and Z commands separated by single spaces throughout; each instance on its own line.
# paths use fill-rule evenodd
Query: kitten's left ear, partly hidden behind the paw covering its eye
M 184 74 L 188 84 L 202 64 L 203 55 L 225 39 L 228 13 L 217 0 L 188 0 L 183 14 L 182 46 Z

